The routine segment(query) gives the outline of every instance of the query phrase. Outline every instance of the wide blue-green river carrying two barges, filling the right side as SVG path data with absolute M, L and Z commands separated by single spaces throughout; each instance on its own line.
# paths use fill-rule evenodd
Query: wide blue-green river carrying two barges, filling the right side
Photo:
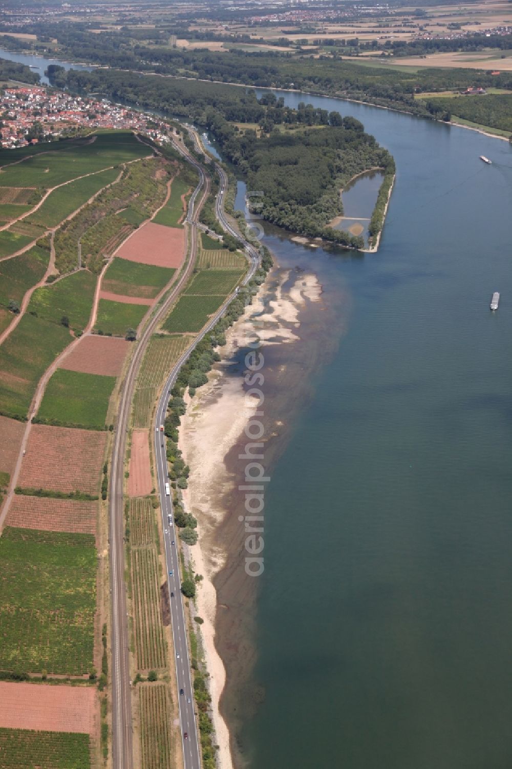
M 265 237 L 336 311 L 270 468 L 241 747 L 251 769 L 510 769 L 512 148 L 279 95 L 361 120 L 397 178 L 377 254 Z

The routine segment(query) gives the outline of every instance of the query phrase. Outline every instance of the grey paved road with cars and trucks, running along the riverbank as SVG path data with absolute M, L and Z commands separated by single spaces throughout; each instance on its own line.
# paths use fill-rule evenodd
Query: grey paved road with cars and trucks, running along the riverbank
M 189 129 L 189 135 L 191 135 L 194 145 L 201 151 L 200 145 L 198 145 L 197 136 L 194 131 Z M 190 156 L 189 156 L 190 157 Z M 192 160 L 192 165 L 196 165 Z M 215 211 L 218 216 L 218 220 L 224 229 L 234 235 L 234 237 L 240 239 L 240 235 L 234 228 L 231 227 L 224 215 L 224 194 L 228 183 L 228 178 L 224 172 L 224 169 L 220 165 L 216 165 L 216 169 L 221 178 L 221 184 L 219 186 L 218 196 L 215 202 Z M 190 211 L 189 211 L 190 215 Z M 187 221 L 189 221 L 187 217 Z M 255 248 L 244 241 L 244 246 L 248 255 L 251 258 L 251 268 L 248 270 L 248 274 L 245 276 L 244 283 L 248 282 L 254 271 L 259 266 L 259 254 Z M 162 391 L 161 398 L 158 401 L 158 407 L 155 417 L 155 458 L 156 458 L 156 470 L 158 476 L 158 491 L 161 499 L 161 518 L 162 526 L 164 529 L 164 550 L 165 550 L 165 562 L 167 565 L 167 578 L 168 578 L 168 590 L 169 601 L 171 604 L 171 630 L 175 647 L 175 667 L 176 667 L 176 679 L 178 682 L 178 691 L 183 691 L 183 694 L 178 695 L 179 711 L 180 711 L 180 726 L 181 726 L 181 745 L 183 748 L 183 761 L 185 769 L 201 769 L 201 757 L 198 740 L 198 727 L 196 723 L 196 717 L 194 713 L 194 691 L 191 681 L 191 665 L 188 654 L 188 638 L 187 638 L 187 624 L 185 621 L 185 610 L 183 606 L 183 598 L 181 596 L 181 569 L 179 561 L 178 545 L 176 544 L 178 532 L 174 526 L 174 516 L 172 509 L 171 494 L 167 494 L 165 485 L 168 483 L 168 464 L 166 456 L 165 436 L 161 432 L 161 425 L 165 423 L 165 416 L 167 414 L 167 406 L 169 400 L 169 393 L 174 387 L 176 378 L 181 369 L 181 366 L 185 363 L 191 351 L 198 345 L 205 334 L 214 327 L 218 319 L 224 314 L 225 309 L 229 305 L 232 298 L 235 296 L 235 292 L 229 296 L 221 308 L 215 313 L 215 315 L 208 321 L 208 324 L 203 328 L 201 333 L 194 339 L 191 346 L 181 355 L 181 358 L 175 363 L 171 371 L 169 372 L 168 379 L 165 383 L 165 387 Z M 187 737 L 185 737 L 185 734 Z

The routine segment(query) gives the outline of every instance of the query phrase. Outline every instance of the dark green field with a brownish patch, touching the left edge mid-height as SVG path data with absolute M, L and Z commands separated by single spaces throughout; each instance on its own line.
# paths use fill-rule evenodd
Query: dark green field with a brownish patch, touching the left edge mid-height
M 39 379 L 70 342 L 68 328 L 23 316 L 0 345 L 0 413 L 25 419 Z

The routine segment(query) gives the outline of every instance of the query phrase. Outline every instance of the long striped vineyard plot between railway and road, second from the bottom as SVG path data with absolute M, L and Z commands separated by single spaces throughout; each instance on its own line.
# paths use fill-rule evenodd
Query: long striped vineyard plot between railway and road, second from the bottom
M 131 584 L 138 670 L 165 667 L 165 638 L 155 546 L 131 548 Z

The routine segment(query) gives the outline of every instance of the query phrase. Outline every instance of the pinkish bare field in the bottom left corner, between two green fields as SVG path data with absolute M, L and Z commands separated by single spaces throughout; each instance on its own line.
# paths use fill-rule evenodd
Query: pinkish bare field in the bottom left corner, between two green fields
M 94 734 L 95 687 L 0 681 L 0 727 Z

